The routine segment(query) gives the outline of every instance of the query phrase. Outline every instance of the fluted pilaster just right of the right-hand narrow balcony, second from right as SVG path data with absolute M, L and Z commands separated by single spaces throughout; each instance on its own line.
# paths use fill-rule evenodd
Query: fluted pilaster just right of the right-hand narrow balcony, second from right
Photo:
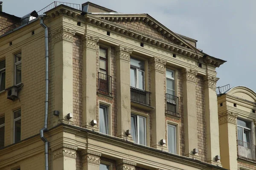
M 193 149 L 198 149 L 197 113 L 195 97 L 196 76 L 196 70 L 185 69 L 183 71 L 185 156 L 200 159 L 198 153 L 193 154 Z

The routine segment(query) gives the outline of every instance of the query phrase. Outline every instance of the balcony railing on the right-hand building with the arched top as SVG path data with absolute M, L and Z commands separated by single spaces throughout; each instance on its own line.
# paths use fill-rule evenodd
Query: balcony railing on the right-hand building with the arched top
M 237 140 L 238 143 L 238 156 L 256 160 L 256 145 Z

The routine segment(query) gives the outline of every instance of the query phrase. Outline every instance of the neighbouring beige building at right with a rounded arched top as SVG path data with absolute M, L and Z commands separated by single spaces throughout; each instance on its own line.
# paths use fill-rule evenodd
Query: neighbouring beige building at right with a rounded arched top
M 247 87 L 227 88 L 218 95 L 221 162 L 224 168 L 256 169 L 255 110 L 256 93 Z

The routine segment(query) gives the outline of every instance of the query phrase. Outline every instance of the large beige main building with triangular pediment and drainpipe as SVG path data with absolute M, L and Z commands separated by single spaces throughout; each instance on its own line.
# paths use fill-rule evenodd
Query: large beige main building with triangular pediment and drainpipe
M 224 60 L 148 14 L 54 5 L 0 31 L 1 170 L 224 169 Z

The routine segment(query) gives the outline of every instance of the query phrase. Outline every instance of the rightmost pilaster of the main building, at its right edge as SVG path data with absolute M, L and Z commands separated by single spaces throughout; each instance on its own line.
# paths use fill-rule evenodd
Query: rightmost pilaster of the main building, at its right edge
M 218 130 L 218 101 L 216 95 L 216 77 L 204 78 L 204 99 L 207 138 L 207 162 L 220 166 L 220 161 L 215 161 L 215 156 L 220 155 L 219 130 Z

